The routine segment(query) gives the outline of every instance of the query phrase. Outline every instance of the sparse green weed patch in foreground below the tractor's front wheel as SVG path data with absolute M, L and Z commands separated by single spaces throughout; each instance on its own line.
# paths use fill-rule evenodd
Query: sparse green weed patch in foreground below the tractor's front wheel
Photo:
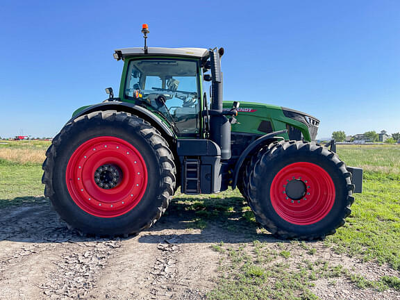
M 317 299 L 310 291 L 313 283 L 308 271 L 299 267 L 288 272 L 290 264 L 277 262 L 276 254 L 258 240 L 253 242 L 251 249 L 224 244 L 213 248 L 226 255 L 227 260 L 223 260 L 226 264 L 224 275 L 217 288 L 208 294 L 209 299 Z M 256 257 L 248 251 L 256 253 Z

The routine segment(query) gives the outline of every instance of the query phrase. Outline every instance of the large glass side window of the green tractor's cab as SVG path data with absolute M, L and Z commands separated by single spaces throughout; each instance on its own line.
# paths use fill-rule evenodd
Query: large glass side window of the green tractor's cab
M 131 60 L 125 96 L 158 110 L 178 133 L 199 133 L 199 83 L 193 60 L 147 58 Z

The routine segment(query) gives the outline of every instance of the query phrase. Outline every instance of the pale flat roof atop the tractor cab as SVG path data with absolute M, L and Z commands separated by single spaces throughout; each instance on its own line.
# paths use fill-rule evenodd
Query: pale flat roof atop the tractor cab
M 147 53 L 144 53 L 144 48 L 122 48 L 115 50 L 119 59 L 124 59 L 128 56 L 186 56 L 193 58 L 203 58 L 208 56 L 208 49 L 204 48 L 161 48 L 161 47 L 148 47 Z

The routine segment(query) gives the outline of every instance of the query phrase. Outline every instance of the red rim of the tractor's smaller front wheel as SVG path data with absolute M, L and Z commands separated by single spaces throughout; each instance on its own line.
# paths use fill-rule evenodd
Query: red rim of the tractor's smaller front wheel
M 304 184 L 301 199 L 289 197 L 287 186 L 292 181 Z M 321 221 L 331 211 L 335 203 L 335 185 L 322 167 L 313 163 L 292 163 L 276 174 L 269 195 L 275 212 L 282 219 L 292 224 L 310 225 Z

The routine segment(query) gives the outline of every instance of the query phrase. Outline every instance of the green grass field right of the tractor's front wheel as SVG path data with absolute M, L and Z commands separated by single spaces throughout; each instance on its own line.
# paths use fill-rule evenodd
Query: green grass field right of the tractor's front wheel
M 344 230 L 328 241 L 338 251 L 400 269 L 400 147 L 340 145 L 338 154 L 348 165 L 365 169 L 364 186 Z

